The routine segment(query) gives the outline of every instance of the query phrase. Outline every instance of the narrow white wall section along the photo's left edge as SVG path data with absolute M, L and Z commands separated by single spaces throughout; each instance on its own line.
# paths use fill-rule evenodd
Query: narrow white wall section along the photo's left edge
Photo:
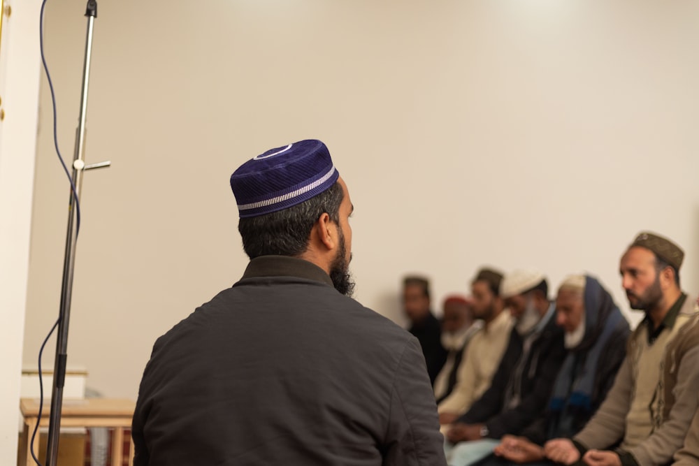
M 0 47 L 0 465 L 17 463 L 39 88 L 41 1 L 12 6 Z

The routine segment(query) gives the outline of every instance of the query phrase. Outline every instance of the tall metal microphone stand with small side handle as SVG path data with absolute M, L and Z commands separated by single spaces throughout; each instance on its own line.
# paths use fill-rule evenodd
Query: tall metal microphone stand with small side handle
M 85 112 L 87 111 L 87 85 L 89 82 L 90 57 L 92 56 L 92 29 L 94 19 L 97 17 L 97 2 L 87 2 L 87 40 L 85 43 L 85 64 L 82 71 L 82 96 L 80 97 L 80 117 L 78 129 L 75 134 L 75 152 L 73 154 L 73 187 L 68 205 L 68 233 L 66 235 L 66 252 L 63 263 L 63 282 L 61 289 L 61 307 L 59 314 L 58 333 L 56 342 L 56 358 L 53 371 L 53 388 L 51 396 L 51 414 L 48 429 L 48 445 L 46 447 L 46 466 L 55 466 L 58 458 L 58 440 L 61 427 L 61 412 L 63 405 L 63 387 L 66 379 L 66 361 L 68 355 L 68 324 L 71 314 L 71 295 L 73 291 L 73 269 L 75 268 L 75 243 L 78 240 L 78 231 L 75 228 L 75 217 L 78 212 L 75 203 L 80 202 L 80 187 L 82 186 L 82 173 L 92 168 L 110 166 L 110 162 L 85 165 Z M 39 374 L 41 377 L 41 374 Z

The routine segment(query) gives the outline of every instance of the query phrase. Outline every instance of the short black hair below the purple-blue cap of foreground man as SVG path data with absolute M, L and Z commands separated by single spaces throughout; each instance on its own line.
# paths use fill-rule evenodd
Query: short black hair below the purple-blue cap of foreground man
M 345 198 L 339 182 L 308 201 L 288 209 L 247 217 L 238 222 L 243 249 L 250 259 L 259 256 L 298 257 L 308 249 L 308 239 L 315 222 L 324 213 L 336 224 L 340 222 L 340 204 Z

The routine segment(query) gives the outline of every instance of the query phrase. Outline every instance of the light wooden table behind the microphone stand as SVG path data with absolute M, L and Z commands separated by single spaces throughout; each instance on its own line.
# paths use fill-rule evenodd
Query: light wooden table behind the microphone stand
M 51 400 L 44 400 L 39 427 L 48 427 Z M 61 427 L 106 427 L 114 430 L 112 436 L 112 465 L 121 466 L 124 444 L 124 428 L 131 428 L 131 418 L 134 416 L 136 403 L 131 400 L 116 400 L 110 398 L 85 398 L 82 400 L 64 400 L 61 410 Z M 22 438 L 26 442 L 27 466 L 34 465 L 31 458 L 31 434 L 39 412 L 38 400 L 34 398 L 22 398 L 20 410 L 24 417 L 24 433 Z M 38 456 L 39 436 L 34 437 L 34 454 Z M 129 465 L 134 460 L 134 443 L 131 441 L 129 449 Z

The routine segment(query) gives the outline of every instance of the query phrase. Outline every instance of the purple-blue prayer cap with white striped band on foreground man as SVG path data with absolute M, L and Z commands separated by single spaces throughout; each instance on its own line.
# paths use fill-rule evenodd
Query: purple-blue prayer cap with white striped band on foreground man
M 231 175 L 240 218 L 284 210 L 321 194 L 338 180 L 324 143 L 315 139 L 270 149 Z

